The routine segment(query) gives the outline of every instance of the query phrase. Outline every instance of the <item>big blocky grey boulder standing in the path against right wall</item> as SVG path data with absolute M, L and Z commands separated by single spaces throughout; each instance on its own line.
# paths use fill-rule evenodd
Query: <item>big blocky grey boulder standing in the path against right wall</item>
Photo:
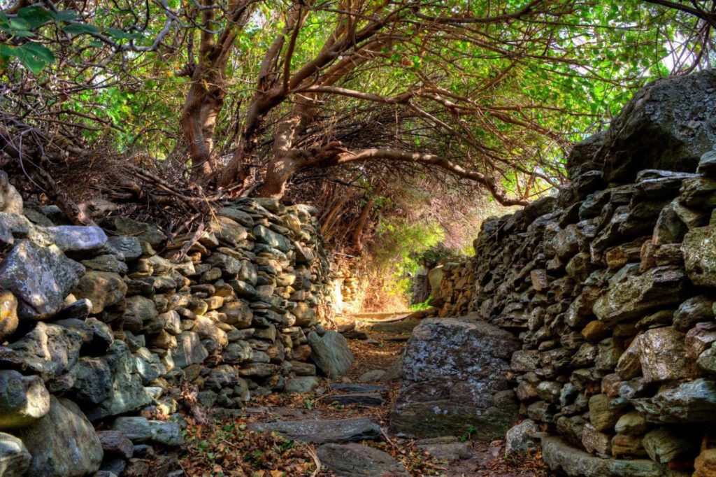
M 508 375 L 518 348 L 503 329 L 474 319 L 425 319 L 403 357 L 403 384 L 390 414 L 395 433 L 503 438 L 517 418 Z

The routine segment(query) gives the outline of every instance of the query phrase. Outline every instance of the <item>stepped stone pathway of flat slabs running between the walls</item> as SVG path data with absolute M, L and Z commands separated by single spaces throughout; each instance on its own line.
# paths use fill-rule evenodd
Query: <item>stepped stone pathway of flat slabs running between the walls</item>
M 316 445 L 324 468 L 319 476 L 549 476 L 521 460 L 504 458 L 503 441 L 483 443 L 469 435 L 412 440 L 388 433 L 388 416 L 400 382 L 395 362 L 418 320 L 369 323 L 364 329 L 343 327 L 355 362 L 346 376 L 321 379 L 313 392 L 289 403 L 247 408 L 255 422 L 249 429 L 275 431 Z M 358 332 L 357 332 L 358 331 Z M 391 369 L 393 368 L 393 369 Z M 367 382 L 361 382 L 367 381 Z M 538 456 L 534 458 L 538 460 Z

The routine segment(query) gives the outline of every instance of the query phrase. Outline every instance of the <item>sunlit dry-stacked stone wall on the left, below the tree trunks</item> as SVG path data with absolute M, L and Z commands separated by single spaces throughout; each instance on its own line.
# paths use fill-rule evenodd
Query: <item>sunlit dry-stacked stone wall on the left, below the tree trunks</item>
M 168 241 L 23 208 L 0 171 L 0 476 L 147 475 L 150 445 L 180 443 L 183 406 L 307 390 L 316 363 L 344 372 L 320 355 L 342 337 L 319 325 L 315 213 L 241 199 Z

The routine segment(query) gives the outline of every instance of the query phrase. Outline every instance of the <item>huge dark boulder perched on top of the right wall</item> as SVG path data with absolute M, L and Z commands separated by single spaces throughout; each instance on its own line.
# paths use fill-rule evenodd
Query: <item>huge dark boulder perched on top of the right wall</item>
M 643 169 L 694 172 L 716 143 L 716 72 L 649 83 L 611 122 L 604 178 L 626 183 Z

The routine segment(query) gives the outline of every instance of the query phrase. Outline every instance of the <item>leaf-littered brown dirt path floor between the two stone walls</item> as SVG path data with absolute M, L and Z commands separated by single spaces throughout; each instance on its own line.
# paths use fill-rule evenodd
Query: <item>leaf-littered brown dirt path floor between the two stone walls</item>
M 304 430 L 306 425 L 313 425 L 318 420 L 321 423 L 337 423 L 338 430 L 342 430 L 341 426 L 348 429 L 356 423 L 374 424 L 365 435 L 367 439 L 362 440 L 362 445 L 380 452 L 377 456 L 360 454 L 353 457 L 358 461 L 380 461 L 381 456 L 384 456 L 382 453 L 387 453 L 405 468 L 402 473 L 394 473 L 390 468 L 385 471 L 378 467 L 377 470 L 362 470 L 367 473 L 354 473 L 352 476 L 551 475 L 538 454 L 505 457 L 503 441 L 475 442 L 470 440 L 469 435 L 452 439 L 413 440 L 387 434 L 390 409 L 400 389 L 400 382 L 359 382 L 359 378 L 369 371 L 389 370 L 400 357 L 405 341 L 401 334 L 368 334 L 367 340 L 348 340 L 355 362 L 347 376 L 340 380 L 323 378 L 313 392 L 301 395 L 259 396 L 241 415 L 224 416 L 218 420 L 217 425 L 190 425 L 187 433 L 188 450 L 181 461 L 185 472 L 192 476 L 337 476 L 339 474 L 326 469 L 325 459 L 350 459 L 350 456 L 334 456 L 327 452 L 330 448 L 320 447 L 322 438 L 332 439 L 326 437 L 330 430 Z M 358 402 L 344 403 L 345 400 Z M 289 426 L 291 432 L 318 435 L 310 436 L 314 445 L 302 444 L 299 438 L 287 440 L 280 435 L 251 431 L 260 425 Z M 299 430 L 294 429 L 296 427 Z M 339 454 L 347 449 L 359 453 L 373 452 L 361 445 L 351 446 L 336 449 Z M 324 456 L 324 461 L 321 461 L 319 455 Z M 321 471 L 316 471 L 318 461 L 324 467 Z M 364 463 L 357 465 L 363 466 Z

